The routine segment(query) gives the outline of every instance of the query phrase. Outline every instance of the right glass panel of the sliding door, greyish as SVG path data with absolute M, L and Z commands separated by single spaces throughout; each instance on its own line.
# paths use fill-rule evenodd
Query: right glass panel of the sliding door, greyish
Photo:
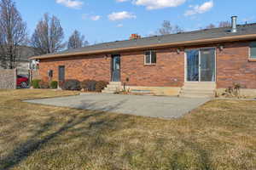
M 201 82 L 215 82 L 215 48 L 201 49 L 200 77 Z

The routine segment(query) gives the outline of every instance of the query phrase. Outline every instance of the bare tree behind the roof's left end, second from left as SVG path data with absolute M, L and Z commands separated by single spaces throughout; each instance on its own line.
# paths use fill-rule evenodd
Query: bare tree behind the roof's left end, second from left
M 32 34 L 31 43 L 36 54 L 51 54 L 65 48 L 63 39 L 61 21 L 54 15 L 50 17 L 49 14 L 44 14 L 44 19 L 38 22 Z

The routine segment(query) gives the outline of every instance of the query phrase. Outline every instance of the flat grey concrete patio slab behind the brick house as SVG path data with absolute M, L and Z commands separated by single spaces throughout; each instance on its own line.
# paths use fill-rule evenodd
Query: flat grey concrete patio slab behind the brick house
M 82 94 L 54 99 L 26 100 L 26 102 L 136 116 L 178 118 L 209 100 L 120 94 Z

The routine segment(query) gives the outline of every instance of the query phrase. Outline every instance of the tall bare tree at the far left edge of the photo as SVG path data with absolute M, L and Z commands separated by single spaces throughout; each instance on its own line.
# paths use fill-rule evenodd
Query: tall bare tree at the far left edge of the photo
M 3 68 L 16 67 L 18 47 L 27 42 L 26 23 L 12 0 L 0 1 L 0 59 Z

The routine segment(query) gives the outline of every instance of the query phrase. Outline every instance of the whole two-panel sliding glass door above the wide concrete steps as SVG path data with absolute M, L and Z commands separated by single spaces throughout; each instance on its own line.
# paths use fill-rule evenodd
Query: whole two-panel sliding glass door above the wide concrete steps
M 186 51 L 188 82 L 215 82 L 215 48 Z

